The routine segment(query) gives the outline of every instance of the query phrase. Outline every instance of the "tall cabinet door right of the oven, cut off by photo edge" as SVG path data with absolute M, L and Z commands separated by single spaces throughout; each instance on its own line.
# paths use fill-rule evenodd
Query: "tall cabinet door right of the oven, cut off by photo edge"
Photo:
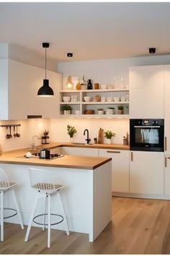
M 170 65 L 164 66 L 165 82 L 165 153 L 170 154 Z

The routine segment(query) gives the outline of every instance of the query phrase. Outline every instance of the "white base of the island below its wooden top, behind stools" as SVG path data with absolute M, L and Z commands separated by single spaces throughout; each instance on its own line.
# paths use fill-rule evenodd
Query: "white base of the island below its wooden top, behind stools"
M 48 171 L 51 179 L 65 187 L 61 189 L 63 206 L 66 211 L 69 231 L 89 234 L 89 242 L 99 236 L 112 220 L 112 163 L 105 163 L 94 170 L 79 168 L 58 168 L 45 166 L 25 166 L 1 163 L 11 182 L 17 182 L 17 200 L 22 210 L 24 225 L 28 224 L 37 191 L 30 187 L 29 168 L 40 168 Z M 57 195 L 52 197 L 52 213 L 62 215 Z M 12 196 L 4 195 L 4 207 L 13 208 Z M 35 215 L 44 213 L 44 203 L 39 203 Z M 19 223 L 17 216 L 6 219 L 6 222 Z M 56 219 L 52 222 L 55 222 Z M 32 226 L 37 224 L 32 222 Z M 27 228 L 27 227 L 25 227 Z M 63 223 L 51 226 L 52 229 L 64 230 Z M 26 232 L 26 229 L 25 229 Z M 5 235 L 5 230 L 4 230 Z M 31 238 L 31 231 L 30 231 Z

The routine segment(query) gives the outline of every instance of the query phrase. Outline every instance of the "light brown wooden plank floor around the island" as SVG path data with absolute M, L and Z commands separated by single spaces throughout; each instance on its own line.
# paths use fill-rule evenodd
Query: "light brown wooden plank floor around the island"
M 52 230 L 47 248 L 47 231 L 5 223 L 0 254 L 170 254 L 170 201 L 112 197 L 112 223 L 93 242 L 86 234 Z

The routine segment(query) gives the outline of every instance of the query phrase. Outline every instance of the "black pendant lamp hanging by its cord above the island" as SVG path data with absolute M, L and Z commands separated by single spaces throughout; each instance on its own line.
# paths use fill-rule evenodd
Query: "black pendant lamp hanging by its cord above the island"
M 54 95 L 53 89 L 49 86 L 49 80 L 46 79 L 46 49 L 49 48 L 49 43 L 42 43 L 45 48 L 45 79 L 43 80 L 42 87 L 38 90 L 37 95 L 41 97 L 51 97 Z

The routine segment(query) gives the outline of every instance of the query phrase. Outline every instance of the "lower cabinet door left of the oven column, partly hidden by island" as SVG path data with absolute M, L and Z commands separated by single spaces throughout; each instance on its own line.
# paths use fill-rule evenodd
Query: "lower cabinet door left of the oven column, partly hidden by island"
M 99 149 L 99 156 L 112 158 L 112 191 L 129 192 L 129 151 Z

